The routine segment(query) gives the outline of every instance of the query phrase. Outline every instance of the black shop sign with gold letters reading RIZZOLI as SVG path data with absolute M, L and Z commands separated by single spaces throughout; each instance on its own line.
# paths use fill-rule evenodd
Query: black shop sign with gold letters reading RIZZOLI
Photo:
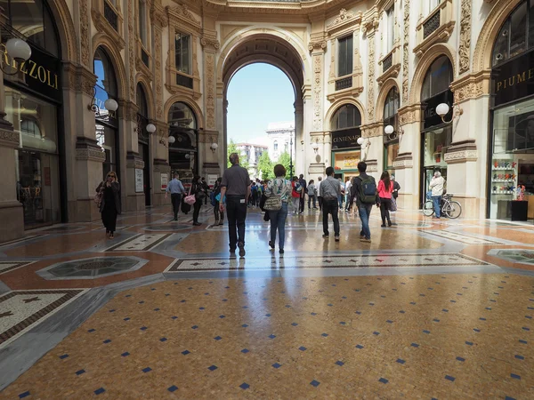
M 4 74 L 4 79 L 13 84 L 24 84 L 34 92 L 61 101 L 59 60 L 40 51 L 30 42 L 28 44 L 31 47 L 31 57 L 21 62 L 13 60 L 7 53 L 5 44 L 0 44 L 1 62 L 4 68 L 20 71 L 20 74 L 14 76 Z

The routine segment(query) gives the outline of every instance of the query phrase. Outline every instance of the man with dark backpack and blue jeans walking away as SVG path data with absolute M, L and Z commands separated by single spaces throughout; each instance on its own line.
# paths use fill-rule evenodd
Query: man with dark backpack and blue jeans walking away
M 351 202 L 355 197 L 361 220 L 360 242 L 371 243 L 369 216 L 371 215 L 373 205 L 378 204 L 376 180 L 366 173 L 367 164 L 365 164 L 363 161 L 358 163 L 358 171 L 360 172 L 360 176 L 354 179 L 354 184 L 352 185 Z

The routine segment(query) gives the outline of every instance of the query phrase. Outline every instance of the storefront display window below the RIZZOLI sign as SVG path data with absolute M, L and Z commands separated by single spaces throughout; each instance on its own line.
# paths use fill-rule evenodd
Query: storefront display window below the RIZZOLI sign
M 57 107 L 5 86 L 5 112 L 14 131 L 20 132 L 15 171 L 25 227 L 59 222 Z

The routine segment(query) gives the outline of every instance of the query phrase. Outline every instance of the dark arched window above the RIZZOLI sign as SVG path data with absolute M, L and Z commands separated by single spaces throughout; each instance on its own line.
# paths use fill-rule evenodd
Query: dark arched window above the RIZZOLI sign
M 60 57 L 60 39 L 52 12 L 44 0 L 0 2 L 13 28 L 55 57 Z

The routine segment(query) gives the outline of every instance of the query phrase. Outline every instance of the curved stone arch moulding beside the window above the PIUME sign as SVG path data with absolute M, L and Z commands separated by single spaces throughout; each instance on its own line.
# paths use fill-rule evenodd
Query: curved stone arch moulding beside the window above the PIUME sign
M 522 0 L 497 0 L 488 14 L 481 33 L 478 36 L 473 53 L 473 73 L 484 69 L 491 69 L 491 55 L 493 44 L 498 36 L 498 31 L 505 23 L 506 18 L 514 11 Z

